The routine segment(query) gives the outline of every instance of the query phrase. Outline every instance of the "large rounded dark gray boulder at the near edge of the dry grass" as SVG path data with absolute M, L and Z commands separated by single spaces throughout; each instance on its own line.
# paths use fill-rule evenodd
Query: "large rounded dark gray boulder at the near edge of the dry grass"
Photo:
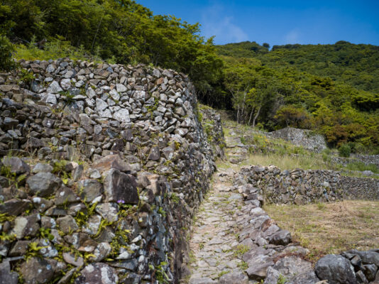
M 317 261 L 314 271 L 321 280 L 328 280 L 329 284 L 357 284 L 353 266 L 344 258 L 328 254 Z

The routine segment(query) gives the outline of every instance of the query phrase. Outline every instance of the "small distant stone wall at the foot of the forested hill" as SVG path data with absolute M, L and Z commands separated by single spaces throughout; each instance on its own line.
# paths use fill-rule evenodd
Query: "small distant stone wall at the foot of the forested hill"
M 294 129 L 292 127 L 286 127 L 285 129 L 280 129 L 267 134 L 273 138 L 280 138 L 290 141 L 296 146 L 302 146 L 305 149 L 316 153 L 320 153 L 326 148 L 324 137 L 322 135 L 312 133 L 312 131 L 307 129 Z

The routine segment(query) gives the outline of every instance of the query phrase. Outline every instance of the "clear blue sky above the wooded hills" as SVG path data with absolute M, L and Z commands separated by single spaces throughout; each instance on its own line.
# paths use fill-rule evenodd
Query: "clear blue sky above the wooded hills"
M 137 0 L 155 14 L 201 23 L 215 43 L 244 40 L 283 45 L 351 43 L 379 45 L 379 0 Z

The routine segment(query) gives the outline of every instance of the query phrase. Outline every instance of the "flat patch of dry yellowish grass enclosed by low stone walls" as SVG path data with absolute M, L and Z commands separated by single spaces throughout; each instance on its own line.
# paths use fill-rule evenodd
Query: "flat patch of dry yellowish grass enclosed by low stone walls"
M 379 202 L 351 201 L 297 205 L 268 205 L 265 211 L 311 260 L 348 249 L 379 248 Z M 313 259 L 312 259 L 313 258 Z

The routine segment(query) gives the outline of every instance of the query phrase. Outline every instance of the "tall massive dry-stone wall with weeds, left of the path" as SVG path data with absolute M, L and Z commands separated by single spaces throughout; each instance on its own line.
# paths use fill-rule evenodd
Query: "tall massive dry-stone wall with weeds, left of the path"
M 4 277 L 176 283 L 183 228 L 215 169 L 188 78 L 68 59 L 21 66 L 0 75 Z

